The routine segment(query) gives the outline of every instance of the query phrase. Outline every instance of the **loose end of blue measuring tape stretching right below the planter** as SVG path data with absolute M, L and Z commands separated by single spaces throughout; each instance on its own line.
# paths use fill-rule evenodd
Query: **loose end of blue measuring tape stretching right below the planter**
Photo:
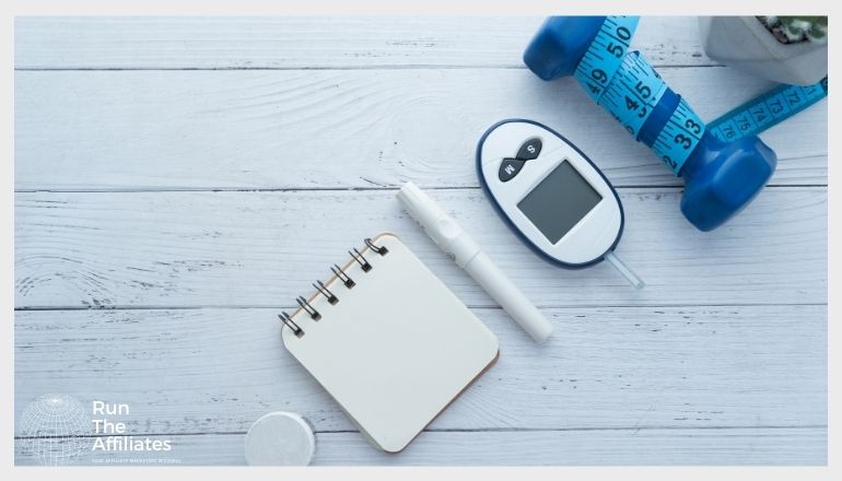
M 707 125 L 720 140 L 736 140 L 767 130 L 828 96 L 828 78 L 812 85 L 779 85 Z

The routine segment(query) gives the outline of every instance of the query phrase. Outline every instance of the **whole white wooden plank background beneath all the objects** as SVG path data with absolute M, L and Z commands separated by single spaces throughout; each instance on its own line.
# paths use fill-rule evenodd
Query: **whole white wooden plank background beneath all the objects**
M 19 19 L 16 417 L 47 392 L 128 402 L 132 434 L 174 439 L 184 464 L 243 464 L 271 410 L 307 418 L 323 465 L 826 464 L 826 103 L 763 133 L 771 185 L 701 233 L 680 179 L 574 82 L 522 66 L 540 21 Z M 703 118 L 770 86 L 707 59 L 692 17 L 643 19 L 634 45 Z M 551 267 L 496 218 L 473 149 L 505 117 L 564 132 L 615 183 L 618 253 L 645 290 Z M 407 218 L 406 180 L 550 317 L 547 345 Z M 379 231 L 501 342 L 394 456 L 283 350 L 274 317 Z M 21 439 L 15 461 L 35 462 Z

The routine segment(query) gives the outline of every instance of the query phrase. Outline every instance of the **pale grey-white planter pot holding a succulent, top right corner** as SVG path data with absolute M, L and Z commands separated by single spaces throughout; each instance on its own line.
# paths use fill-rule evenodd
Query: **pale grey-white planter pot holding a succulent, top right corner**
M 809 85 L 828 74 L 828 44 L 782 44 L 756 16 L 701 16 L 707 57 L 781 83 Z

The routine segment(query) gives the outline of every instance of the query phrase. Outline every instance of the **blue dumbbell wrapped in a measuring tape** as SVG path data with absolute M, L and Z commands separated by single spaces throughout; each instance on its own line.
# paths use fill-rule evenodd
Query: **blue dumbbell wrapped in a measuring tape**
M 638 17 L 552 16 L 524 52 L 543 80 L 574 75 L 635 138 L 685 178 L 681 212 L 712 231 L 742 210 L 774 173 L 777 157 L 757 136 L 722 141 L 638 51 Z

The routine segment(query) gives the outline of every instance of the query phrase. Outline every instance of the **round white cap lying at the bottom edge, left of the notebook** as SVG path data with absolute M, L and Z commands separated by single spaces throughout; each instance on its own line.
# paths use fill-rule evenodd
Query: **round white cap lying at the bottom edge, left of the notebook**
M 246 433 L 246 462 L 252 466 L 307 466 L 315 450 L 313 430 L 292 412 L 270 412 Z

